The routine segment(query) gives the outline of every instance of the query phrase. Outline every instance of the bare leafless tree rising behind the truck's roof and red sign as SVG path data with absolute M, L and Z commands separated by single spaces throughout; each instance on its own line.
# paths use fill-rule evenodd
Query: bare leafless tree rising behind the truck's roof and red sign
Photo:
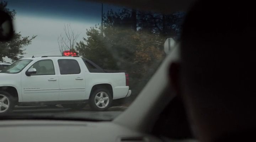
M 76 40 L 79 37 L 80 33 L 74 33 L 74 30 L 71 28 L 70 24 L 64 25 L 64 35 L 60 34 L 58 37 L 58 44 L 59 44 L 59 51 L 60 54 L 63 53 L 65 50 L 74 50 L 76 45 Z

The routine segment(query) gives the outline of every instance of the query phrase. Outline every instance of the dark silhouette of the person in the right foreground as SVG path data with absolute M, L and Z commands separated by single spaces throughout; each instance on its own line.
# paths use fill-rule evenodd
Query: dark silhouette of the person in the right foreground
M 184 21 L 181 60 L 171 64 L 170 78 L 201 141 L 256 128 L 252 3 L 198 1 Z

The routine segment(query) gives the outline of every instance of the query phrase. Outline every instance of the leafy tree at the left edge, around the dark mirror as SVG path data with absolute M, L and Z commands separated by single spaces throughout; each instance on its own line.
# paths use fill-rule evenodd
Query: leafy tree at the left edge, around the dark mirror
M 10 10 L 7 8 L 6 1 L 0 2 L 0 10 L 9 13 L 12 20 L 14 19 L 16 12 L 15 10 Z M 37 35 L 32 35 L 31 38 L 29 36 L 22 37 L 20 32 L 15 32 L 14 37 L 10 41 L 0 42 L 0 61 L 3 62 L 6 56 L 14 61 L 18 60 L 18 55 L 25 54 L 24 47 L 31 44 L 32 40 L 36 38 L 36 36 Z

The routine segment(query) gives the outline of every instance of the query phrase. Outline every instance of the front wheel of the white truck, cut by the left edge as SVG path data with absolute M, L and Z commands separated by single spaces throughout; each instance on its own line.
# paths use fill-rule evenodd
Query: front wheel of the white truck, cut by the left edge
M 6 98 L 5 98 L 6 97 Z M 4 99 L 4 100 L 2 100 Z M 0 115 L 11 113 L 15 106 L 15 99 L 12 95 L 5 91 L 0 91 Z M 8 108 L 4 107 L 8 105 Z

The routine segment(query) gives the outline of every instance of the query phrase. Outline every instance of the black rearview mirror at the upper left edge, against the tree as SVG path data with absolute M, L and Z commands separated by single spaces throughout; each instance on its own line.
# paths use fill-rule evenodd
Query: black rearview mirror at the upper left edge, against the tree
M 14 29 L 11 16 L 4 11 L 0 11 L 0 42 L 9 41 L 13 34 Z

